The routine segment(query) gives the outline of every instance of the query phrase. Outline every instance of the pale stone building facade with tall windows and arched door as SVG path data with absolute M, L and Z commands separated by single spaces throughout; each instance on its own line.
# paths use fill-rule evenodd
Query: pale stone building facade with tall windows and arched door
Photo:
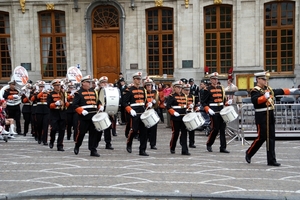
M 1 82 L 10 79 L 9 70 L 24 65 L 33 81 L 64 78 L 68 67 L 78 66 L 83 75 L 95 78 L 107 75 L 111 82 L 120 72 L 130 82 L 131 75 L 141 71 L 159 82 L 185 77 L 194 78 L 199 84 L 207 73 L 217 71 L 225 84 L 228 71 L 233 69 L 230 75 L 236 84 L 249 89 L 253 73 L 269 69 L 273 87 L 297 86 L 300 84 L 299 3 L 296 0 L 1 1 L 0 23 L 5 29 L 0 30 L 1 46 L 7 46 L 2 48 L 6 54 L 1 53 Z M 287 34 L 282 25 L 288 26 Z

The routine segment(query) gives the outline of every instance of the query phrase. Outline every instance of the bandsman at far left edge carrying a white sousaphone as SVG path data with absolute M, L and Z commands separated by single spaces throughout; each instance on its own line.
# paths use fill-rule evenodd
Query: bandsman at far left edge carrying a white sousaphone
M 4 91 L 3 98 L 7 102 L 6 112 L 9 118 L 13 118 L 16 122 L 17 133 L 21 135 L 21 108 L 19 91 L 15 88 L 16 82 L 9 81 L 9 88 Z M 13 125 L 14 126 L 14 125 Z

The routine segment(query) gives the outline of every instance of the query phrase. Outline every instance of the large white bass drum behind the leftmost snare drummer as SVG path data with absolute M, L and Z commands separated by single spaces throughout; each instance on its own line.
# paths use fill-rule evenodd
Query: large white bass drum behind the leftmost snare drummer
M 99 100 L 105 107 L 105 112 L 114 115 L 119 110 L 120 90 L 116 87 L 106 87 L 100 90 Z

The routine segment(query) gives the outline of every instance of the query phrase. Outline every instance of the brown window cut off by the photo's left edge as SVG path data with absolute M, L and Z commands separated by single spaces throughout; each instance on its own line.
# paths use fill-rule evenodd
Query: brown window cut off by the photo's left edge
M 9 14 L 0 11 L 0 78 L 7 80 L 12 74 L 10 43 Z

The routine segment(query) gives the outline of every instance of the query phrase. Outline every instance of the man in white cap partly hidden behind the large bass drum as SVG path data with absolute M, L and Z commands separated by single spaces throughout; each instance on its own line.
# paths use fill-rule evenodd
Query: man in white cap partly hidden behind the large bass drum
M 106 76 L 100 77 L 99 78 L 99 84 L 100 84 L 100 88 L 99 88 L 98 97 L 100 96 L 101 90 L 108 87 L 108 78 Z M 105 106 L 104 106 L 104 110 L 105 110 Z M 102 133 L 104 132 L 104 141 L 106 143 L 105 149 L 113 150 L 114 148 L 111 145 L 111 133 L 110 133 L 110 131 L 113 129 L 113 126 L 114 126 L 114 128 L 116 128 L 115 125 L 113 124 L 113 121 L 115 121 L 115 119 L 114 119 L 114 116 L 111 116 L 111 115 L 108 115 L 108 116 L 109 116 L 109 120 L 112 122 L 112 124 L 110 125 L 110 127 L 105 129 L 104 131 L 100 131 L 100 138 L 102 137 Z

